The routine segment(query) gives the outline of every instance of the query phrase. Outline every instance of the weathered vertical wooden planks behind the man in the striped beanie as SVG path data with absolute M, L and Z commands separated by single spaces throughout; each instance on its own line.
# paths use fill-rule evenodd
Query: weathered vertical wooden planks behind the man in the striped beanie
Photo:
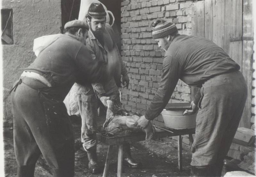
M 239 127 L 250 128 L 252 108 L 252 0 L 202 0 L 193 3 L 192 35 L 210 39 L 240 66 L 248 96 Z M 196 88 L 191 89 L 194 96 Z

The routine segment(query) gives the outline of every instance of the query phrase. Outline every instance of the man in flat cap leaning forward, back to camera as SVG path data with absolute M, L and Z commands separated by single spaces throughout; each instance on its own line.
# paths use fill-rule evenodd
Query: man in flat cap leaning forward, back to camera
M 88 29 L 73 20 L 65 34 L 42 36 L 36 59 L 11 90 L 18 177 L 34 177 L 40 154 L 54 177 L 74 176 L 74 135 L 63 100 L 74 82 L 104 81 L 108 75 L 106 64 L 93 61 L 84 45 Z

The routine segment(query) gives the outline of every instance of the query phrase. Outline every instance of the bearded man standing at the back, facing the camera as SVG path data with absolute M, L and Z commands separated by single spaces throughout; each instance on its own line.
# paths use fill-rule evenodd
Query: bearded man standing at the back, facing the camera
M 114 74 L 107 78 L 105 83 L 94 83 L 79 85 L 75 84 L 70 90 L 70 95 L 77 93 L 79 96 L 77 102 L 82 118 L 82 134 L 84 150 L 87 151 L 89 160 L 90 173 L 99 173 L 100 168 L 96 154 L 96 118 L 99 107 L 97 97 L 109 96 L 114 102 L 121 106 L 118 87 L 121 87 L 121 75 L 123 86 L 128 88 L 129 77 L 125 65 L 121 59 L 116 43 L 117 35 L 112 27 L 106 23 L 106 12 L 100 3 L 92 3 L 86 15 L 87 23 L 90 27 L 87 45 L 91 48 L 91 53 L 96 61 L 102 61 L 108 65 L 114 66 Z M 97 96 L 95 96 L 95 93 Z M 71 97 L 70 97 L 71 98 Z M 72 114 L 70 112 L 70 114 Z M 138 167 L 137 163 L 131 156 L 130 145 L 124 145 L 124 164 L 130 167 Z

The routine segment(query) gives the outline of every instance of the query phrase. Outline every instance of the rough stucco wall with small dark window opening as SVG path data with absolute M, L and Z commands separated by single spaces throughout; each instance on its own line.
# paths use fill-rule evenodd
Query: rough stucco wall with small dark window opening
M 4 126 L 12 125 L 9 90 L 23 69 L 34 61 L 33 40 L 60 33 L 60 0 L 2 0 L 13 11 L 13 45 L 3 45 Z

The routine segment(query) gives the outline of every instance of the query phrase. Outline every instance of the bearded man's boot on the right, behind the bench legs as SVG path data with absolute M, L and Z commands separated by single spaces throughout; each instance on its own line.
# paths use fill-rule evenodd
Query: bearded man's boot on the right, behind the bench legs
M 124 159 L 123 159 L 123 164 L 127 165 L 131 168 L 138 168 L 141 167 L 142 164 L 140 162 L 136 162 L 131 155 L 131 149 L 130 149 L 130 144 L 124 144 L 123 145 L 123 153 L 124 153 Z

